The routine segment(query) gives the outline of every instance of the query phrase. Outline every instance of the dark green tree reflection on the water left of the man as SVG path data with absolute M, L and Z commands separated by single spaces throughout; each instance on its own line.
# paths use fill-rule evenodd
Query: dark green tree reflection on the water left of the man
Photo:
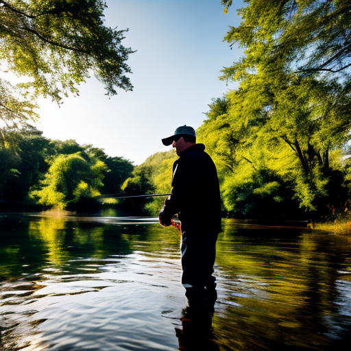
M 62 265 L 77 257 L 101 259 L 128 255 L 134 250 L 150 254 L 169 250 L 173 256 L 173 247 L 178 247 L 180 241 L 174 228 L 116 226 L 72 219 L 53 215 L 20 220 L 8 217 L 0 222 L 0 275 L 17 276 L 23 271 L 40 273 L 48 261 Z

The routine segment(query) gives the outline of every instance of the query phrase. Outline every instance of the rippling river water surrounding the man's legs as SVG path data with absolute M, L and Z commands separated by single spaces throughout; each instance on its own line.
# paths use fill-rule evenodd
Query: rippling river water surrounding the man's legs
M 0 350 L 349 350 L 350 238 L 223 220 L 194 335 L 179 245 L 156 219 L 0 214 Z

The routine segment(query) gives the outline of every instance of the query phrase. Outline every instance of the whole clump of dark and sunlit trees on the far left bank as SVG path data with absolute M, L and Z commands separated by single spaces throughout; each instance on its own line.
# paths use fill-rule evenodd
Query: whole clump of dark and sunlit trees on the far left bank
M 32 125 L 3 132 L 8 143 L 0 144 L 2 202 L 84 209 L 96 205 L 93 198 L 99 191 L 120 193 L 134 169 L 132 162 L 109 157 L 92 145 L 51 141 Z

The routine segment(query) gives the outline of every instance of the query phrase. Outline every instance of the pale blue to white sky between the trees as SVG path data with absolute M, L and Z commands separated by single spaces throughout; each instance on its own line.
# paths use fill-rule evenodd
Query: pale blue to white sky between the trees
M 108 0 L 106 25 L 129 28 L 124 45 L 136 50 L 128 64 L 134 90 L 109 99 L 94 77 L 80 86 L 80 96 L 59 108 L 39 99 L 38 129 L 51 139 L 75 139 L 101 147 L 109 156 L 142 163 L 171 147 L 160 141 L 179 125 L 198 128 L 212 97 L 234 84 L 219 81 L 220 70 L 242 50 L 224 43 L 228 26 L 239 25 L 233 1 L 223 14 L 220 0 Z

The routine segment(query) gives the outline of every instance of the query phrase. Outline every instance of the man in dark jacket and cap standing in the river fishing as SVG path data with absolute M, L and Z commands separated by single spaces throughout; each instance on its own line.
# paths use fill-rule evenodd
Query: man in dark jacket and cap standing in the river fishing
M 202 315 L 217 299 L 213 274 L 216 241 L 221 232 L 221 198 L 213 160 L 196 143 L 195 130 L 177 128 L 173 136 L 162 139 L 173 145 L 179 156 L 173 164 L 172 195 L 160 212 L 162 226 L 171 224 L 178 213 L 182 230 L 182 285 L 186 289 L 189 311 Z M 208 313 L 206 313 L 208 315 Z

